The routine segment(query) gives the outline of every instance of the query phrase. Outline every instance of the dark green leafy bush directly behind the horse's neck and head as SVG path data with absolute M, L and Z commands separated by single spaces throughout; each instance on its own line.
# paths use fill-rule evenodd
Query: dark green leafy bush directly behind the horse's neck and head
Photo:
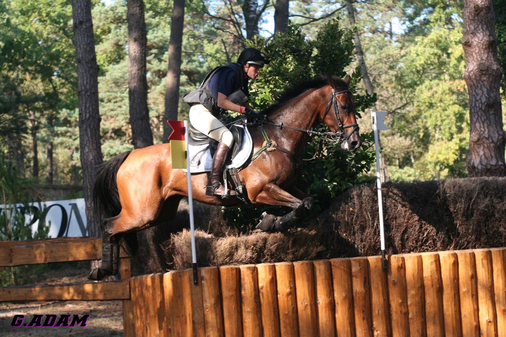
M 308 40 L 300 28 L 289 26 L 286 34 L 276 34 L 272 40 L 256 38 L 247 41 L 248 46 L 262 50 L 271 60 L 266 65 L 259 78 L 252 85 L 251 103 L 257 109 L 262 109 L 274 103 L 274 94 L 286 86 L 307 80 L 317 74 L 344 76 L 353 53 L 353 31 L 340 28 L 339 20 L 326 23 L 317 33 L 314 40 Z M 352 74 L 350 88 L 356 90 L 360 81 L 359 72 Z M 375 97 L 354 93 L 356 110 L 363 111 L 370 107 Z M 324 130 L 324 126 L 319 127 Z M 340 191 L 355 183 L 369 180 L 366 173 L 374 161 L 373 141 L 371 134 L 362 134 L 364 145 L 355 153 L 341 150 L 340 145 L 324 142 L 316 137 L 315 143 L 310 143 L 303 158 L 310 158 L 316 154 L 316 159 L 304 162 L 301 169 L 302 176 L 298 187 L 314 197 L 317 202 L 314 212 L 320 212 L 327 207 Z M 258 218 L 263 208 L 227 210 L 225 219 L 235 224 L 241 230 L 247 230 L 252 218 Z M 283 212 L 284 211 L 284 212 Z M 269 213 L 286 213 L 285 210 Z

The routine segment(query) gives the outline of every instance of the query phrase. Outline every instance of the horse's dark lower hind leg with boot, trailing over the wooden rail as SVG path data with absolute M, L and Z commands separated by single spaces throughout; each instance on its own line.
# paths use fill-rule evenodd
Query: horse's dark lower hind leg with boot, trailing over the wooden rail
M 119 244 L 117 235 L 111 234 L 112 223 L 119 216 L 105 219 L 102 226 L 102 265 L 92 270 L 89 279 L 99 281 L 118 273 Z

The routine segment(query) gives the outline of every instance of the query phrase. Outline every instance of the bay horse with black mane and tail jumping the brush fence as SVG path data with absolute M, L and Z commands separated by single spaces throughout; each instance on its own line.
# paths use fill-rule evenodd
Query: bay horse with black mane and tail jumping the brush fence
M 360 147 L 349 82 L 349 76 L 320 77 L 294 85 L 263 111 L 267 120 L 259 122 L 262 127 L 248 128 L 256 155 L 238 173 L 247 200 L 252 205 L 292 209 L 282 217 L 264 216 L 261 229 L 287 228 L 311 208 L 312 198 L 296 187 L 296 171 L 310 135 L 318 133 L 312 131 L 313 126 L 326 124 L 331 132 L 325 135 L 341 141 L 344 150 Z M 274 151 L 259 152 L 266 148 L 265 135 L 275 144 Z M 241 203 L 236 197 L 206 196 L 208 174 L 191 174 L 194 200 L 226 207 Z M 188 196 L 186 175 L 184 170 L 172 168 L 168 143 L 125 152 L 99 166 L 94 205 L 107 218 L 102 223 L 102 265 L 90 273 L 90 279 L 117 274 L 121 234 L 156 226 L 175 216 L 179 202 Z

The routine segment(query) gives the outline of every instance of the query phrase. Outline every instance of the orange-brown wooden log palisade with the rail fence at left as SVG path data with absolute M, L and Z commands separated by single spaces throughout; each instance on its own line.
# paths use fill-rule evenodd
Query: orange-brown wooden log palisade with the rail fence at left
M 2 265 L 93 260 L 102 247 L 16 245 L 0 243 Z M 4 287 L 0 300 L 123 300 L 125 336 L 506 336 L 505 263 L 506 248 L 495 248 L 393 255 L 387 272 L 378 256 L 204 267 L 198 285 L 184 270 Z

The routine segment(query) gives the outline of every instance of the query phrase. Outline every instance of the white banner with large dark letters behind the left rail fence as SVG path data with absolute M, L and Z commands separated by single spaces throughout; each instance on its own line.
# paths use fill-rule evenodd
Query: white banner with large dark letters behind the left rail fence
M 33 214 L 45 211 L 46 225 L 49 228 L 49 237 L 80 237 L 88 236 L 88 223 L 86 221 L 85 199 L 70 199 L 47 201 L 29 204 L 30 210 L 25 210 L 23 205 L 16 205 L 18 212 L 25 215 L 25 224 L 31 224 L 32 232 L 35 233 L 39 219 Z M 0 213 L 9 212 L 5 205 L 0 205 Z

